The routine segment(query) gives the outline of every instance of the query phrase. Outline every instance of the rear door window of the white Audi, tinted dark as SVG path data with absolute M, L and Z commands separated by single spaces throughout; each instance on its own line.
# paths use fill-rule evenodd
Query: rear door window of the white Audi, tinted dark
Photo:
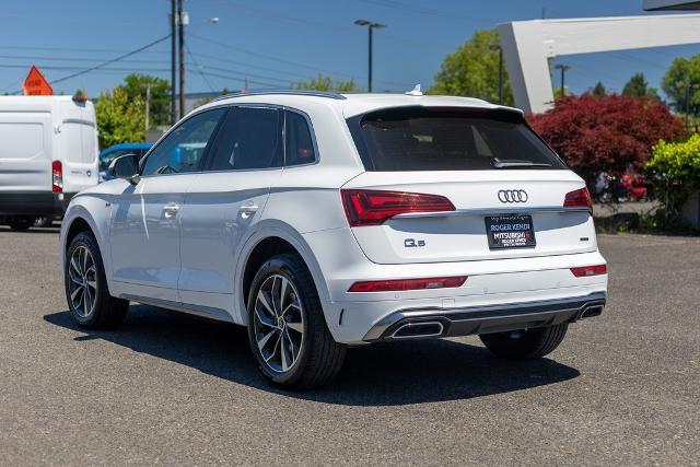
M 232 107 L 221 126 L 211 153 L 209 171 L 281 167 L 281 110 Z

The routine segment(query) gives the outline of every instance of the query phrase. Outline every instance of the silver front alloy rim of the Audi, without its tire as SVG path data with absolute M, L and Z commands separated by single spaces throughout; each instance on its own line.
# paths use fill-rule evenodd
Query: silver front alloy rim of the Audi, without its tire
M 97 300 L 97 268 L 88 247 L 80 245 L 73 249 L 68 275 L 71 306 L 80 317 L 86 318 L 95 308 Z

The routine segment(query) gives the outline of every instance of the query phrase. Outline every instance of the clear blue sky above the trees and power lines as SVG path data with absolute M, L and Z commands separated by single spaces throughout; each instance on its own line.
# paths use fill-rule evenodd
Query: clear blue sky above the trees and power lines
M 13 92 L 31 65 L 49 81 L 115 58 L 168 34 L 170 0 L 4 0 L 0 12 L 0 92 Z M 357 19 L 387 25 L 375 33 L 374 90 L 424 87 L 446 54 L 471 36 L 513 20 L 650 14 L 642 0 L 186 0 L 190 15 L 186 56 L 188 92 L 289 86 L 317 72 L 354 78 L 366 85 L 366 30 Z M 218 24 L 207 20 L 217 16 Z M 620 91 L 643 72 L 650 84 L 675 57 L 700 45 L 562 57 L 571 65 L 574 93 L 597 80 Z M 197 65 L 195 65 L 197 63 Z M 108 70 L 56 84 L 56 92 L 82 87 L 92 95 L 110 89 L 130 71 L 170 77 L 170 40 Z M 201 71 L 201 72 L 200 72 Z M 556 79 L 558 83 L 558 78 Z

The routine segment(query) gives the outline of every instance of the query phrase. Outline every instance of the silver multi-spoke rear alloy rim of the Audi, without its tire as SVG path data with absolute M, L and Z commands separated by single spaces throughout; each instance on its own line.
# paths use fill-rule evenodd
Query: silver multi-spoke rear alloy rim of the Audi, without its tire
M 304 310 L 294 283 L 281 275 L 268 277 L 255 300 L 254 332 L 265 365 L 290 371 L 304 342 Z

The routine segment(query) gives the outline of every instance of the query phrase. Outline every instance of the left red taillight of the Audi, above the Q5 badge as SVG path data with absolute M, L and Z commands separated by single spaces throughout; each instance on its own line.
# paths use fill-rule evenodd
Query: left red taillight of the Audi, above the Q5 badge
M 348 222 L 352 227 L 380 225 L 394 215 L 409 212 L 455 210 L 452 202 L 440 195 L 369 189 L 342 189 L 340 195 Z

